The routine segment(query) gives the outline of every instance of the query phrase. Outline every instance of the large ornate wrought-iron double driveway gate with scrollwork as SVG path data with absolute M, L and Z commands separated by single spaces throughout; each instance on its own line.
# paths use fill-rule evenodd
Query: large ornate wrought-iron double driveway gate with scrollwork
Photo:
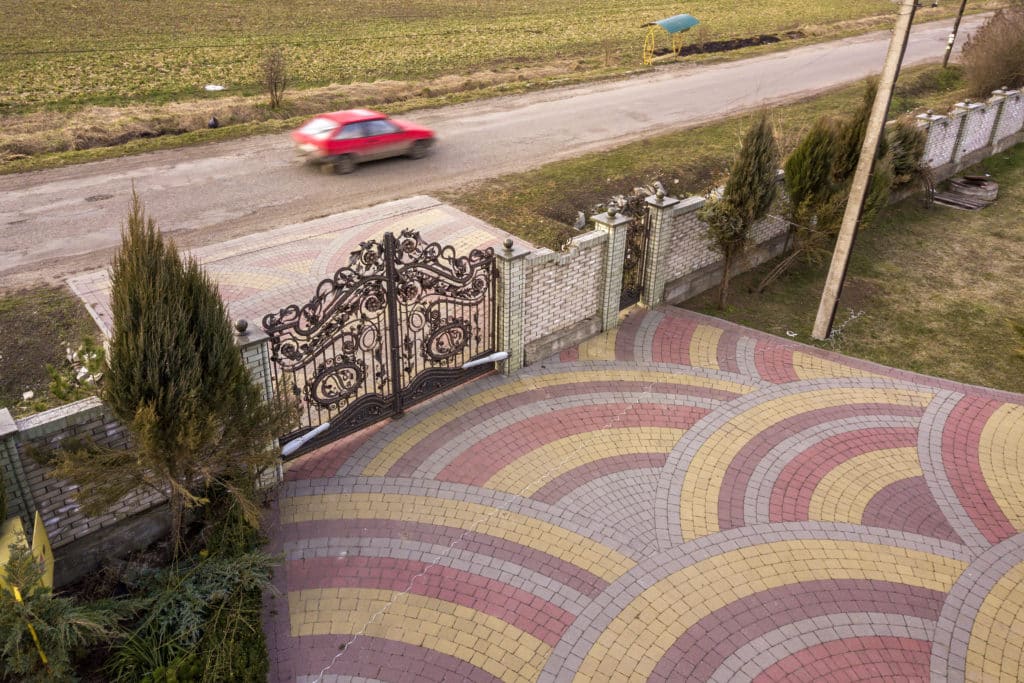
M 457 256 L 419 232 L 359 245 L 304 306 L 263 317 L 270 365 L 302 404 L 302 426 L 282 443 L 330 423 L 292 456 L 391 416 L 466 379 L 494 352 L 493 249 Z

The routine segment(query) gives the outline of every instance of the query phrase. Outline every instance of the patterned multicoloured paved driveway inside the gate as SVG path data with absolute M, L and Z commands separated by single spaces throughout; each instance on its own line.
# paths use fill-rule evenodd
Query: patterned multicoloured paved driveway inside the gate
M 675 308 L 288 468 L 274 681 L 1019 680 L 1024 396 Z

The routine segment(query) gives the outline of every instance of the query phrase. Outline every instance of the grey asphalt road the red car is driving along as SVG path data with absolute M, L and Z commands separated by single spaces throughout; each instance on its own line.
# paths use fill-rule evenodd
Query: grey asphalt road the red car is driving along
M 966 17 L 957 45 L 982 22 Z M 950 27 L 915 26 L 904 65 L 941 59 Z M 0 176 L 0 289 L 105 265 L 133 183 L 158 225 L 197 247 L 797 99 L 880 72 L 890 35 L 412 113 L 438 133 L 431 156 L 346 176 L 296 163 L 284 134 Z

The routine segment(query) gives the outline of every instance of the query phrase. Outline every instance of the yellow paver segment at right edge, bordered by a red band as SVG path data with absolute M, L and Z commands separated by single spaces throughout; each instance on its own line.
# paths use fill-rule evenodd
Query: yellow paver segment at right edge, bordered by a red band
M 978 442 L 982 476 L 1018 531 L 1024 531 L 1024 405 L 1000 405 Z

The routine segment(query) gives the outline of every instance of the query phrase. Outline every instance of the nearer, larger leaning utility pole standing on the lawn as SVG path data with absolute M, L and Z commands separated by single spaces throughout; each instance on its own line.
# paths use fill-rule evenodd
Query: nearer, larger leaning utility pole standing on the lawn
M 850 251 L 853 249 L 853 241 L 857 237 L 857 223 L 860 221 L 860 213 L 864 209 L 864 198 L 867 196 L 871 171 L 874 169 L 874 156 L 878 154 L 879 142 L 885 134 L 889 103 L 893 97 L 893 89 L 896 87 L 900 65 L 903 62 L 903 53 L 906 51 L 907 39 L 910 37 L 910 26 L 913 24 L 913 14 L 916 8 L 916 0 L 902 0 L 900 2 L 899 16 L 896 19 L 896 27 L 893 29 L 892 40 L 889 42 L 889 53 L 886 54 L 886 63 L 882 68 L 879 91 L 874 95 L 874 104 L 871 106 L 871 114 L 867 119 L 867 130 L 864 132 L 864 143 L 860 147 L 860 160 L 857 162 L 857 170 L 853 174 L 850 197 L 846 201 L 846 212 L 843 214 L 843 223 L 840 225 L 836 249 L 833 251 L 831 265 L 828 266 L 828 279 L 825 281 L 825 288 L 821 293 L 817 317 L 814 318 L 814 330 L 811 332 L 814 339 L 827 339 L 831 332 L 833 322 L 836 319 L 836 307 L 839 305 L 839 297 L 843 293 L 843 281 L 846 280 Z

